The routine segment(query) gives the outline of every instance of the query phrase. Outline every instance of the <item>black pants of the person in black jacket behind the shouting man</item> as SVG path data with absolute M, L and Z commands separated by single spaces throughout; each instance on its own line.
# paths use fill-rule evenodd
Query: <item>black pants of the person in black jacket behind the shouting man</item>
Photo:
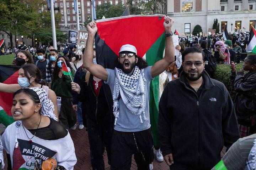
M 113 133 L 113 124 L 98 123 L 87 118 L 87 131 L 90 144 L 91 165 L 93 170 L 104 170 L 103 153 L 107 151 L 108 164 L 110 165 L 110 149 Z

